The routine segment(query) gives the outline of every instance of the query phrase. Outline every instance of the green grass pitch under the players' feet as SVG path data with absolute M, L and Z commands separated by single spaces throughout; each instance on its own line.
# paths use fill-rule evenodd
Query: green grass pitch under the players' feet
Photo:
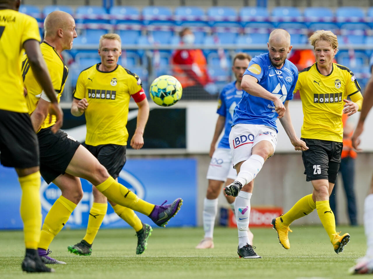
M 351 235 L 345 251 L 335 254 L 321 226 L 293 226 L 291 248 L 279 244 L 275 230 L 251 229 L 255 251 L 261 259 L 237 255 L 237 231 L 215 228 L 214 249 L 197 250 L 202 228 L 154 228 L 148 248 L 136 255 L 137 238 L 132 229 L 101 229 L 91 256 L 70 254 L 67 246 L 76 244 L 85 231 L 63 230 L 52 242 L 50 255 L 66 261 L 53 266 L 53 274 L 26 274 L 21 271 L 24 253 L 21 231 L 0 231 L 0 278 L 354 278 L 347 273 L 355 259 L 366 251 L 363 227 L 342 227 Z M 363 275 L 366 276 L 366 275 Z M 368 276 L 370 277 L 370 276 Z

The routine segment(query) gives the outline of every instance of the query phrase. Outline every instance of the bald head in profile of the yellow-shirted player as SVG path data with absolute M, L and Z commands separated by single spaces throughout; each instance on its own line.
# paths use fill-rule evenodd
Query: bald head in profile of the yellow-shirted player
M 77 37 L 73 17 L 62 11 L 54 11 L 47 15 L 44 31 L 44 40 L 53 42 L 55 47 L 61 50 L 71 49 L 73 40 Z

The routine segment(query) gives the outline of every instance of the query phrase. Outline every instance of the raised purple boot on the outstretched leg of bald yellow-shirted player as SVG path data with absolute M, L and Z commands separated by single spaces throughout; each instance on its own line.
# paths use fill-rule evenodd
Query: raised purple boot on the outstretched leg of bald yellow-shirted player
M 163 204 L 167 202 L 164 201 Z M 156 225 L 160 227 L 165 227 L 167 222 L 178 213 L 180 210 L 181 205 L 183 204 L 183 200 L 181 198 L 177 198 L 173 201 L 172 204 L 166 204 L 160 206 L 154 206 L 154 209 L 151 211 L 149 218 L 153 220 Z

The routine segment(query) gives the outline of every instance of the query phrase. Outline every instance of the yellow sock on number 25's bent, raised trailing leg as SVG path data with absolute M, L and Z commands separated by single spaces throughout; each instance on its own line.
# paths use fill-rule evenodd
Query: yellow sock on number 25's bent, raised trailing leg
M 281 216 L 282 224 L 288 227 L 294 220 L 310 214 L 314 209 L 316 209 L 316 204 L 312 200 L 312 194 L 304 196 Z

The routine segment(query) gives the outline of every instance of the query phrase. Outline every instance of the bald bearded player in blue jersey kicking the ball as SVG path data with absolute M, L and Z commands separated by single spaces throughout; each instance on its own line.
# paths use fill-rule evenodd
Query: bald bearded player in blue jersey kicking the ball
M 234 109 L 229 134 L 232 161 L 238 175 L 224 191 L 226 195 L 237 197 L 237 253 L 243 258 L 260 258 L 249 244 L 247 233 L 253 192 L 250 182 L 265 160 L 275 152 L 278 132 L 276 118 L 280 119 L 295 150 L 308 149 L 295 134 L 288 108 L 298 79 L 297 67 L 286 59 L 292 48 L 290 34 L 284 29 L 273 30 L 267 46 L 269 52 L 254 57 L 242 77 L 244 93 Z

